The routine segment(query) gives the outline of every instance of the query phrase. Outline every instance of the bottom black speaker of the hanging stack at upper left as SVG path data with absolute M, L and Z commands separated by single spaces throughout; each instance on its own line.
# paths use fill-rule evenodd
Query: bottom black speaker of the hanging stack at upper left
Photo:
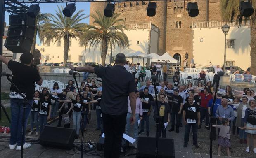
M 7 37 L 4 46 L 12 51 L 12 53 L 27 53 L 30 52 L 32 43 L 33 40 L 27 37 L 14 36 Z

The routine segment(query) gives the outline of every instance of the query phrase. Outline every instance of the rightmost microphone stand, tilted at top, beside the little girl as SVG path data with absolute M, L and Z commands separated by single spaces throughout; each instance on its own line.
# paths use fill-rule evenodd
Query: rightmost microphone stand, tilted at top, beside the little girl
M 209 125 L 209 127 L 211 128 L 211 132 L 210 132 L 210 158 L 212 158 L 213 140 L 216 139 L 216 128 L 213 127 L 213 125 L 216 124 L 216 117 L 213 114 L 213 106 L 215 105 L 215 102 L 216 102 L 216 95 L 217 95 L 217 91 L 218 91 L 219 81 L 220 81 L 220 75 L 217 74 L 216 90 L 215 90 L 215 95 L 214 95 L 214 98 L 213 98 L 213 104 L 211 105 L 211 119 L 210 119 L 210 125 Z

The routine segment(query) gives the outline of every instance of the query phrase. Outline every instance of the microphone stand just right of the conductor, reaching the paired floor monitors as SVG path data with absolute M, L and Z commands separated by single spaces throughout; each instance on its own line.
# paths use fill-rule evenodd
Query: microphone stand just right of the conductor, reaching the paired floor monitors
M 158 100 L 157 100 L 157 88 L 156 88 L 156 81 L 153 81 L 154 89 L 155 89 L 155 96 L 156 96 L 156 158 L 158 156 L 158 139 L 159 139 L 159 133 L 160 133 L 160 118 L 159 118 L 159 106 L 158 106 Z

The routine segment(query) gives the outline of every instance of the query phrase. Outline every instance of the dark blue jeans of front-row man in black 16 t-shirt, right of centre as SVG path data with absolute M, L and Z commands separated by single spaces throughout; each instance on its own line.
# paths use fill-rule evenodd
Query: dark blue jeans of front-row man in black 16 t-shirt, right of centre
M 184 135 L 184 144 L 187 144 L 190 137 L 190 128 L 192 127 L 192 133 L 193 133 L 193 144 L 197 144 L 197 129 L 198 124 L 197 123 L 187 123 L 185 125 L 185 135 Z

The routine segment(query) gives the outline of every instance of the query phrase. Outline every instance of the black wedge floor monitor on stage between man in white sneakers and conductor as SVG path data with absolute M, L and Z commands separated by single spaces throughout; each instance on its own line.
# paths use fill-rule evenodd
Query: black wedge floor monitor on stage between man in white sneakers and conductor
M 76 131 L 72 128 L 45 126 L 38 142 L 42 146 L 73 149 Z

